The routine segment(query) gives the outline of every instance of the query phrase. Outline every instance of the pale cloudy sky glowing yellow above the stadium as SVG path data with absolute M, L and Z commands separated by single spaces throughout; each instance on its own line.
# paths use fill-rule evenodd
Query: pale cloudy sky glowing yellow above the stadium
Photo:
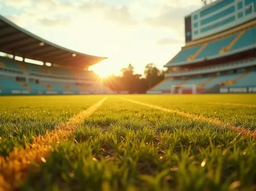
M 201 0 L 0 0 L 0 14 L 68 49 L 108 57 L 92 67 L 101 76 L 131 63 L 163 69 L 185 44 L 184 16 Z

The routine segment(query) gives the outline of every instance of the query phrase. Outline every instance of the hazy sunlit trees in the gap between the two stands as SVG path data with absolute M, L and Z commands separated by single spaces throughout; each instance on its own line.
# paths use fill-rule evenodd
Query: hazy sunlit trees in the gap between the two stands
M 128 91 L 129 93 L 145 93 L 146 90 L 164 79 L 164 71 L 158 69 L 153 63 L 147 64 L 144 76 L 135 74 L 134 67 L 129 64 L 121 69 L 120 76 L 112 75 L 104 79 L 104 85 L 113 91 Z

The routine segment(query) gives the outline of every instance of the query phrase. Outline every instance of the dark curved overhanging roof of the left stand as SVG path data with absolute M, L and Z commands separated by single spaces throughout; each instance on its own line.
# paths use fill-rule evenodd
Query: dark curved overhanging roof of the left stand
M 0 15 L 0 51 L 66 66 L 90 66 L 105 57 L 82 54 L 42 39 Z

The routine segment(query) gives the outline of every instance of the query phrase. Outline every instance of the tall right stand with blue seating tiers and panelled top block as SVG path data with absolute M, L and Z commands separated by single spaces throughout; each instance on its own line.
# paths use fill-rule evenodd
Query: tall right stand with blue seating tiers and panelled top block
M 218 0 L 185 16 L 185 46 L 147 93 L 256 92 L 256 0 Z

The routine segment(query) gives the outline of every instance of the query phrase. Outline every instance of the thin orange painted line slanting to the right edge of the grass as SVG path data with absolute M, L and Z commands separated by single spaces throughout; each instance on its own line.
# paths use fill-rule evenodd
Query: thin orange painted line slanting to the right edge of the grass
M 193 118 L 197 121 L 205 121 L 205 122 L 210 122 L 212 124 L 215 124 L 217 126 L 221 126 L 221 127 L 225 127 L 228 128 L 232 131 L 235 131 L 243 136 L 250 136 L 253 138 L 256 138 L 256 130 L 254 131 L 250 131 L 248 129 L 244 129 L 242 127 L 235 127 L 235 126 L 231 126 L 229 124 L 225 124 L 223 122 L 221 122 L 220 120 L 218 120 L 217 118 L 214 117 L 205 117 L 202 115 L 196 115 L 196 114 L 192 114 L 192 113 L 188 113 L 188 112 L 184 112 L 184 111 L 180 111 L 180 110 L 174 110 L 174 109 L 167 109 L 164 107 L 160 107 L 160 106 L 156 106 L 156 105 L 151 105 L 151 104 L 147 104 L 147 103 L 143 103 L 143 102 L 138 102 L 135 100 L 130 100 L 130 99 L 125 99 L 125 98 L 121 98 L 122 100 L 134 103 L 134 104 L 138 104 L 138 105 L 143 105 L 143 106 L 147 106 L 150 108 L 154 108 L 154 109 L 158 109 L 160 111 L 165 111 L 165 112 L 169 112 L 169 113 L 177 113 L 181 116 L 187 117 L 187 118 Z

